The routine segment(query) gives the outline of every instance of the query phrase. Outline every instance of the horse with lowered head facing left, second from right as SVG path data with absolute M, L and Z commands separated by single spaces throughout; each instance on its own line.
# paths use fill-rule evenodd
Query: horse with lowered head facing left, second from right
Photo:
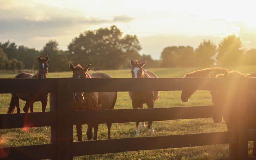
M 215 68 L 206 68 L 206 69 L 201 69 L 201 70 L 196 70 L 190 73 L 186 73 L 183 78 L 189 78 L 189 77 L 209 77 L 210 72 L 214 73 L 214 74 L 222 74 L 225 71 L 228 71 L 228 69 L 226 68 L 219 68 L 219 67 L 215 67 Z M 187 90 L 183 90 L 181 92 L 181 100 L 183 102 L 188 102 L 188 99 L 192 96 L 192 94 L 196 92 L 196 90 L 193 89 L 187 89 Z

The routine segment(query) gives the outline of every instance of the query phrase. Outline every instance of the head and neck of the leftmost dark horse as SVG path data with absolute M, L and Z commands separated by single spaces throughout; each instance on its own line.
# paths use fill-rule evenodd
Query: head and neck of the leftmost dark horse
M 46 78 L 48 73 L 48 55 L 45 58 L 38 56 L 38 78 Z

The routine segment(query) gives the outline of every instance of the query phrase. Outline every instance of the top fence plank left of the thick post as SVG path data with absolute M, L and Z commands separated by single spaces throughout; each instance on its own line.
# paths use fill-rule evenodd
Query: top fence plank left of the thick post
M 56 78 L 25 79 L 0 78 L 0 93 L 50 93 L 56 92 Z

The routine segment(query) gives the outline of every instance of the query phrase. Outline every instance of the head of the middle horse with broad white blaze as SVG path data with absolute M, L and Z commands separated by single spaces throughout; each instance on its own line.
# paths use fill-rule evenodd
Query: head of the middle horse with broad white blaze
M 131 59 L 130 64 L 132 66 L 131 68 L 131 76 L 132 78 L 143 78 L 143 69 L 142 67 L 146 64 L 147 61 L 140 63 L 139 60 L 133 61 Z

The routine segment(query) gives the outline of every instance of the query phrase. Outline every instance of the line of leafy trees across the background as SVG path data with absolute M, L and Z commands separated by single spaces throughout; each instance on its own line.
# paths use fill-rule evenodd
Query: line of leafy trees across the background
M 92 69 L 130 68 L 129 60 L 147 61 L 145 67 L 194 67 L 255 65 L 256 49 L 248 51 L 236 35 L 229 35 L 217 45 L 204 40 L 194 49 L 191 46 L 168 46 L 161 52 L 160 60 L 150 55 L 140 55 L 141 44 L 136 35 L 124 35 L 116 26 L 88 30 L 72 39 L 68 50 L 58 47 L 50 40 L 42 50 L 17 46 L 14 42 L 0 42 L 0 70 L 14 72 L 22 69 L 37 69 L 37 56 L 49 56 L 49 71 L 69 71 L 67 64 L 93 63 Z

